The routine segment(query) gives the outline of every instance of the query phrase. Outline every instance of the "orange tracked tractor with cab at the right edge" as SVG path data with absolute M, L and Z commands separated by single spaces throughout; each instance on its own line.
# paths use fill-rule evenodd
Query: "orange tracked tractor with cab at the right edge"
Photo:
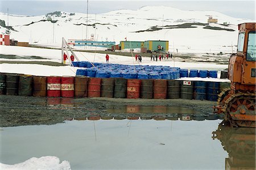
M 229 59 L 230 88 L 224 89 L 214 107 L 232 126 L 255 127 L 256 23 L 238 25 L 237 54 Z

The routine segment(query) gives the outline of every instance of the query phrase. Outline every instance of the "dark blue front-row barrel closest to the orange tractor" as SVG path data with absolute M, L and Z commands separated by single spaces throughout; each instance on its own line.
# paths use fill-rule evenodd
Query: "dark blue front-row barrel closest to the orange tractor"
M 207 82 L 207 100 L 217 101 L 220 82 Z

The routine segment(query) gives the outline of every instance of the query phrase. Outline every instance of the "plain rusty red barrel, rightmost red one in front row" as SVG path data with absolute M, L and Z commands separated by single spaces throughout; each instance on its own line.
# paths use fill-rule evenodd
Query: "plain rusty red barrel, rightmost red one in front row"
M 167 80 L 154 80 L 154 98 L 165 99 L 167 95 Z

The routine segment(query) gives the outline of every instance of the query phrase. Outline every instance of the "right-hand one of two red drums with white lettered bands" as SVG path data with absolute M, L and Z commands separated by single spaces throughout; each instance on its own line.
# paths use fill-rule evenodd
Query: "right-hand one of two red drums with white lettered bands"
M 61 97 L 74 97 L 74 77 L 61 77 Z

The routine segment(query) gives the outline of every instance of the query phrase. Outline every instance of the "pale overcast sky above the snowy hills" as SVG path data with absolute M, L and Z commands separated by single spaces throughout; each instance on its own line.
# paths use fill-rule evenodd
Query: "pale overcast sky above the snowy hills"
M 44 15 L 53 11 L 86 13 L 86 1 L 11 1 L 0 0 L 1 12 L 19 15 Z M 137 10 L 142 6 L 170 6 L 181 10 L 213 10 L 234 18 L 255 20 L 255 1 L 96 1 L 89 0 L 89 14 L 112 10 Z M 160 12 L 160 11 L 159 11 Z

